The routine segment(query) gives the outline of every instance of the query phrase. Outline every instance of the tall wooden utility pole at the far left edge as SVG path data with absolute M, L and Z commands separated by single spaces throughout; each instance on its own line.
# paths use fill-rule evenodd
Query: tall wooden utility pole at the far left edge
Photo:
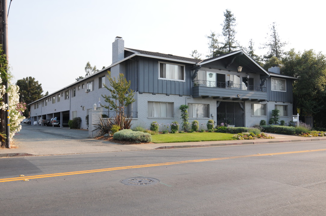
M 0 0 L 0 34 L 1 34 L 1 44 L 3 48 L 3 55 L 6 55 L 6 60 L 8 63 L 8 20 L 7 20 L 7 0 Z M 8 68 L 5 69 L 6 74 Z M 10 148 L 10 119 L 9 119 L 9 97 L 7 94 L 8 89 L 8 79 L 6 77 L 6 80 L 3 80 L 4 84 L 6 86 L 6 93 L 4 95 L 3 101 L 7 104 L 7 109 L 5 112 L 2 112 L 3 115 L 1 115 L 1 126 L 0 131 L 6 132 L 6 148 Z

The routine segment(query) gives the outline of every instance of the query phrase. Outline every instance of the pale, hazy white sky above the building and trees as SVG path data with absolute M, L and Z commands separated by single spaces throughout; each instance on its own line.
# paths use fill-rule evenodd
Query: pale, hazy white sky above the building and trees
M 9 6 L 10 0 L 7 0 Z M 12 83 L 34 77 L 53 93 L 85 75 L 89 61 L 97 69 L 112 63 L 112 42 L 125 47 L 191 57 L 206 56 L 211 32 L 222 33 L 226 9 L 236 19 L 235 39 L 254 42 L 256 54 L 276 23 L 285 51 L 326 53 L 322 1 L 179 0 L 13 0 L 8 16 L 8 58 Z M 223 41 L 224 38 L 220 37 Z

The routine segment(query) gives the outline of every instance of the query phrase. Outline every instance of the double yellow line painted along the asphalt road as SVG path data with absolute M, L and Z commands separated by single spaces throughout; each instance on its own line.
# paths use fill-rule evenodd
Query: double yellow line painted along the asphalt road
M 93 172 L 105 172 L 105 171 L 121 170 L 121 169 L 168 166 L 174 164 L 185 164 L 185 163 L 204 162 L 204 161 L 213 161 L 213 160 L 225 160 L 225 159 L 256 157 L 256 156 L 266 156 L 266 155 L 284 155 L 284 154 L 318 152 L 318 151 L 326 151 L 326 149 L 305 150 L 305 151 L 296 151 L 296 152 L 279 152 L 279 153 L 256 154 L 256 155 L 242 155 L 242 156 L 231 156 L 231 157 L 217 157 L 217 158 L 209 158 L 209 159 L 185 160 L 185 161 L 167 162 L 167 163 L 159 163 L 159 164 L 145 164 L 145 165 L 128 166 L 128 167 L 113 167 L 113 168 L 106 168 L 106 169 L 91 169 L 91 170 L 83 170 L 83 171 L 75 171 L 75 172 L 52 173 L 52 174 L 45 174 L 45 175 L 21 176 L 16 178 L 0 179 L 0 182 L 40 179 L 40 178 L 48 178 L 48 177 L 56 177 L 56 176 L 77 175 L 77 174 L 85 174 L 85 173 L 93 173 Z

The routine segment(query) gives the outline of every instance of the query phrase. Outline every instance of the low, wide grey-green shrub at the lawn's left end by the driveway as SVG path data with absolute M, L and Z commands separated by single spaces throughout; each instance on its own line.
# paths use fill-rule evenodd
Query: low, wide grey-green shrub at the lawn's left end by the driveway
M 141 131 L 132 131 L 130 129 L 124 129 L 116 132 L 113 135 L 113 139 L 133 142 L 151 142 L 152 135 Z

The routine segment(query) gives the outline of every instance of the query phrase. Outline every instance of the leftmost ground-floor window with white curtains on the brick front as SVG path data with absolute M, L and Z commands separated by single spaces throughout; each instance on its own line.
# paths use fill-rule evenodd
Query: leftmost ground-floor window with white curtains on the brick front
M 148 117 L 173 117 L 172 102 L 148 101 Z

